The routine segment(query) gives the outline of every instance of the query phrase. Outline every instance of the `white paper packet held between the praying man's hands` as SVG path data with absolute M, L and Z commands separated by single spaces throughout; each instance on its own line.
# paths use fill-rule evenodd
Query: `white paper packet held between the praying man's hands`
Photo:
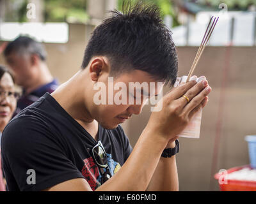
M 188 76 L 183 77 L 177 77 L 177 80 L 174 84 L 174 87 L 177 87 L 180 85 L 180 83 L 184 82 L 186 83 Z M 205 80 L 205 77 L 191 77 L 189 78 L 189 81 L 196 80 L 196 82 L 201 82 L 202 80 Z M 180 133 L 178 136 L 184 137 L 184 138 L 200 138 L 200 127 L 201 127 L 201 120 L 202 120 L 202 108 L 198 110 L 197 113 L 193 116 L 193 118 L 190 120 L 188 126 Z

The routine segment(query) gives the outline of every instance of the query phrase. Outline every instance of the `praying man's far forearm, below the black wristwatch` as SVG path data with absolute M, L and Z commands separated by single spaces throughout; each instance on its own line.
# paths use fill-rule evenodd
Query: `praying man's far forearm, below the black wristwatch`
M 175 143 L 175 142 L 174 142 Z M 172 145 L 172 148 L 175 145 Z M 179 191 L 176 157 L 161 157 L 147 191 Z

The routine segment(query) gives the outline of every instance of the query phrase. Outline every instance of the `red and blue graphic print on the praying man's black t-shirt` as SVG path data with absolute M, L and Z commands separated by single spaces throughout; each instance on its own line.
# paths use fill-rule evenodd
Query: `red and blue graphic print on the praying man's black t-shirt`
M 109 170 L 111 175 L 113 176 L 118 170 L 120 170 L 121 165 L 112 159 L 111 154 L 107 154 L 107 157 Z M 84 159 L 83 161 L 84 166 L 82 169 L 82 174 L 84 178 L 87 180 L 88 184 L 90 184 L 92 190 L 95 191 L 95 189 L 97 189 L 97 187 L 100 186 L 101 175 L 99 173 L 99 168 L 97 164 L 95 164 L 95 162 L 93 161 L 92 157 Z

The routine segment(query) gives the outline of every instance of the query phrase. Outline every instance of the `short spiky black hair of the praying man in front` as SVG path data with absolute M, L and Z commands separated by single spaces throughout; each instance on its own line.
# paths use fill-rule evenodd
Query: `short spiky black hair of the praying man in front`
M 123 13 L 117 10 L 111 13 L 93 31 L 82 68 L 88 66 L 92 57 L 105 55 L 111 63 L 111 75 L 140 69 L 173 85 L 177 78 L 177 52 L 159 8 L 141 1 L 131 5 L 127 1 Z

